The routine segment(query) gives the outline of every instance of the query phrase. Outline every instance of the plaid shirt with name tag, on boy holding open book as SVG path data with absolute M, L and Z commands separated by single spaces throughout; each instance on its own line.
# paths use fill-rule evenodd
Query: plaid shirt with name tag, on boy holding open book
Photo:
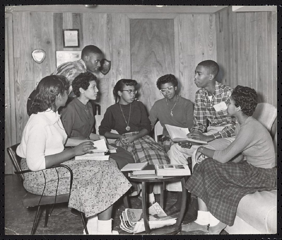
M 212 134 L 216 139 L 235 136 L 235 117 L 227 117 L 226 110 L 216 112 L 213 108 L 213 105 L 228 101 L 232 92 L 232 87 L 215 82 L 215 91 L 210 101 L 208 92 L 204 88 L 198 90 L 195 97 L 194 125 L 191 131 L 204 133 L 208 119 L 210 126 L 225 126 L 221 131 Z

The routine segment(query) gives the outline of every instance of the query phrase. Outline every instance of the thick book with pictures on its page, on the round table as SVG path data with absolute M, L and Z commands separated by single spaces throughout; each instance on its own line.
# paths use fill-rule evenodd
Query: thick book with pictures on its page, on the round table
M 157 176 L 188 176 L 191 175 L 188 165 L 164 164 L 155 165 Z

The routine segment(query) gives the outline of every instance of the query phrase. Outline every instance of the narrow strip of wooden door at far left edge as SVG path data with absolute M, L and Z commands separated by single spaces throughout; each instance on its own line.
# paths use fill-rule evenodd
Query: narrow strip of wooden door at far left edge
M 17 143 L 15 85 L 14 85 L 14 52 L 12 14 L 5 14 L 5 174 L 13 174 L 14 167 L 6 148 Z

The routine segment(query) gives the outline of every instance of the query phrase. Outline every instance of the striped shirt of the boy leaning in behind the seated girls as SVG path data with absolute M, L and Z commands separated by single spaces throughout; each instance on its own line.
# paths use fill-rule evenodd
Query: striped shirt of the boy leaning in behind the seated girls
M 74 62 L 62 63 L 51 75 L 62 75 L 67 78 L 67 94 L 72 92 L 72 81 L 81 73 L 86 72 L 86 66 L 82 59 Z

